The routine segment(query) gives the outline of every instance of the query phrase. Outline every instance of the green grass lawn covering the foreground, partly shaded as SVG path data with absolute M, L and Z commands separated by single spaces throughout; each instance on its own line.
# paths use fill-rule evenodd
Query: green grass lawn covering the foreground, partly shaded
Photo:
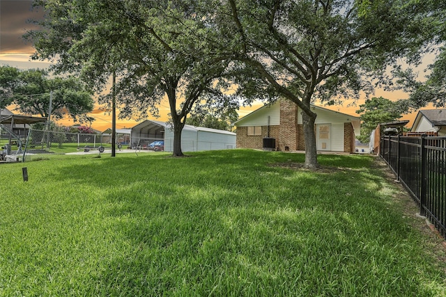
M 321 155 L 317 172 L 294 168 L 304 158 L 0 164 L 0 296 L 445 296 L 373 157 Z

